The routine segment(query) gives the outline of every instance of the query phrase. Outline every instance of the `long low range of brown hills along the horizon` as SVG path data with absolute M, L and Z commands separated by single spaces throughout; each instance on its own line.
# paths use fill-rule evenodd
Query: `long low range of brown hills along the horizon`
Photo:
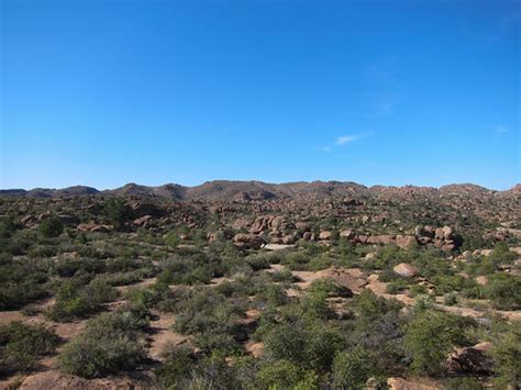
M 185 187 L 167 183 L 158 187 L 128 183 L 123 187 L 99 191 L 92 187 L 75 186 L 63 189 L 35 188 L 32 190 L 5 189 L 0 190 L 3 197 L 30 198 L 64 198 L 81 196 L 120 196 L 120 197 L 155 197 L 169 200 L 186 201 L 268 201 L 275 199 L 326 199 L 329 197 L 346 198 L 403 198 L 403 197 L 436 197 L 436 196 L 513 196 L 519 197 L 521 185 L 516 185 L 506 191 L 494 191 L 472 183 L 433 187 L 365 187 L 345 181 L 298 181 L 287 183 L 267 183 L 263 181 L 231 181 L 213 180 L 200 186 Z

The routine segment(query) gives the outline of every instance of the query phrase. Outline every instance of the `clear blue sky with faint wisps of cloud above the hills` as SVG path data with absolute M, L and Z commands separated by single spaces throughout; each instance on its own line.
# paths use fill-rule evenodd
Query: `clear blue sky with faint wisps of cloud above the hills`
M 0 0 L 0 187 L 509 188 L 520 3 Z

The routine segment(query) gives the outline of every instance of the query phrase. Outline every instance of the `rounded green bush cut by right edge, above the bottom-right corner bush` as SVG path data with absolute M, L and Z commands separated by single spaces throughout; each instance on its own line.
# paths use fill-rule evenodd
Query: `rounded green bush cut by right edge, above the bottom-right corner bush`
M 517 310 L 521 308 L 521 277 L 519 276 L 492 275 L 484 291 L 496 309 Z

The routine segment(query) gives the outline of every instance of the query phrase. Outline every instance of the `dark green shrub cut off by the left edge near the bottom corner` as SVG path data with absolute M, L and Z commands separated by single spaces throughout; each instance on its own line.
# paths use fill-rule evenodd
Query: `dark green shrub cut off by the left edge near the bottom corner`
M 58 343 L 59 337 L 44 325 L 0 325 L 0 375 L 33 369 L 38 358 L 54 354 Z

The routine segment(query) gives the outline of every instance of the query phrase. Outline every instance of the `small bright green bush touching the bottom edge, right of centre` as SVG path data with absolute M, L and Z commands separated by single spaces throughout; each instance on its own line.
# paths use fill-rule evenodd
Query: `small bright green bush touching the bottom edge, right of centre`
M 365 389 L 367 380 L 380 374 L 378 356 L 358 346 L 336 354 L 332 383 L 335 389 Z

